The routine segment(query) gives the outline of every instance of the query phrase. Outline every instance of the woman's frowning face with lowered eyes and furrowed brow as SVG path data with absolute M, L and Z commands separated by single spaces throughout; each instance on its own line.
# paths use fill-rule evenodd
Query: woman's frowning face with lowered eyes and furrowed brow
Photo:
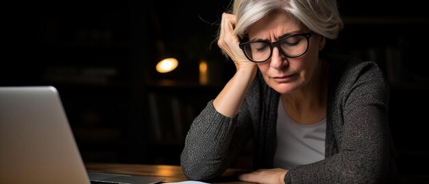
M 277 11 L 257 21 L 249 30 L 249 41 L 264 40 L 278 41 L 285 35 L 308 33 L 307 27 L 291 19 L 285 12 Z M 286 58 L 278 47 L 273 47 L 273 53 L 266 62 L 258 62 L 258 68 L 269 87 L 285 94 L 296 89 L 305 89 L 312 79 L 319 62 L 319 48 L 324 46 L 322 37 L 318 34 L 310 36 L 308 50 L 297 58 Z

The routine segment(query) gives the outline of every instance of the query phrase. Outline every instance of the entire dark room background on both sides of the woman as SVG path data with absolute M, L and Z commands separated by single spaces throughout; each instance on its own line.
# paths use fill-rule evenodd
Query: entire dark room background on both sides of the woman
M 179 164 L 193 117 L 232 76 L 215 41 L 230 1 L 3 4 L 0 86 L 52 85 L 84 161 Z M 420 1 L 339 1 L 345 29 L 328 49 L 378 62 L 409 183 L 428 179 L 428 13 Z M 161 56 L 180 64 L 156 73 Z M 199 84 L 206 60 L 209 83 Z

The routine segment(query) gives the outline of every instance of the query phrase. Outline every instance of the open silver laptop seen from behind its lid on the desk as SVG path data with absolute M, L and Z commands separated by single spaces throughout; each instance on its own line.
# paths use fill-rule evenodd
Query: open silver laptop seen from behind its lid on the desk
M 88 173 L 55 87 L 0 87 L 0 183 L 162 183 Z

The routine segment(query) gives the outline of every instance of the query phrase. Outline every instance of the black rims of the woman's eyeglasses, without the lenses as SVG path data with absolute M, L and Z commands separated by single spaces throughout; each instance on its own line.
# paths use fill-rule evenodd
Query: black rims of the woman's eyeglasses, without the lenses
M 265 62 L 265 61 L 269 60 L 269 58 L 271 58 L 271 56 L 273 56 L 273 49 L 274 49 L 273 47 L 277 47 L 277 48 L 278 48 L 278 50 L 280 51 L 280 53 L 281 53 L 283 56 L 285 56 L 286 58 L 297 58 L 297 57 L 299 57 L 299 56 L 302 56 L 302 55 L 306 54 L 306 52 L 308 51 L 308 46 L 310 46 L 310 37 L 311 37 L 313 34 L 314 34 L 314 32 L 312 32 L 312 31 L 310 31 L 310 32 L 308 32 L 308 33 L 291 34 L 291 35 L 289 35 L 289 36 L 284 36 L 283 38 L 280 38 L 280 40 L 275 41 L 275 42 L 267 42 L 267 41 L 248 41 L 248 42 L 245 42 L 245 43 L 239 43 L 239 44 L 238 44 L 238 47 L 240 47 L 240 49 L 241 49 L 241 50 L 243 50 L 243 53 L 244 53 L 244 55 L 246 56 L 246 58 L 247 58 L 247 59 L 249 59 L 249 60 L 250 60 L 250 61 L 252 61 L 252 62 Z M 280 43 L 281 41 L 283 41 L 283 40 L 284 40 L 284 39 L 286 39 L 286 38 L 291 38 L 292 36 L 304 36 L 304 37 L 306 38 L 306 40 L 307 40 L 307 47 L 306 47 L 306 50 L 305 50 L 305 51 L 303 51 L 301 54 L 298 54 L 297 56 L 289 56 L 289 55 L 285 54 L 285 53 L 284 53 L 284 51 L 283 51 L 282 49 L 280 49 L 280 47 L 279 47 L 279 43 Z M 255 61 L 255 60 L 253 60 L 252 58 L 250 58 L 249 56 L 247 56 L 247 53 L 246 53 L 246 51 L 245 51 L 245 45 L 247 45 L 247 44 L 249 44 L 249 43 L 267 43 L 267 45 L 269 45 L 269 48 L 270 48 L 270 53 L 269 53 L 268 58 L 267 58 L 266 60 L 262 60 L 262 61 Z

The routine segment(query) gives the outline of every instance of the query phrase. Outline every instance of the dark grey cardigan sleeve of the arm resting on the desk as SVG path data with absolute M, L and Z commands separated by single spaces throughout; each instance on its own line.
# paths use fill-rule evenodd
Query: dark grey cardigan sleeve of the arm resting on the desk
M 328 104 L 334 140 L 327 137 L 326 141 L 334 142 L 338 150 L 321 161 L 291 168 L 285 183 L 384 181 L 389 165 L 389 86 L 373 62 L 360 63 L 344 73 Z

